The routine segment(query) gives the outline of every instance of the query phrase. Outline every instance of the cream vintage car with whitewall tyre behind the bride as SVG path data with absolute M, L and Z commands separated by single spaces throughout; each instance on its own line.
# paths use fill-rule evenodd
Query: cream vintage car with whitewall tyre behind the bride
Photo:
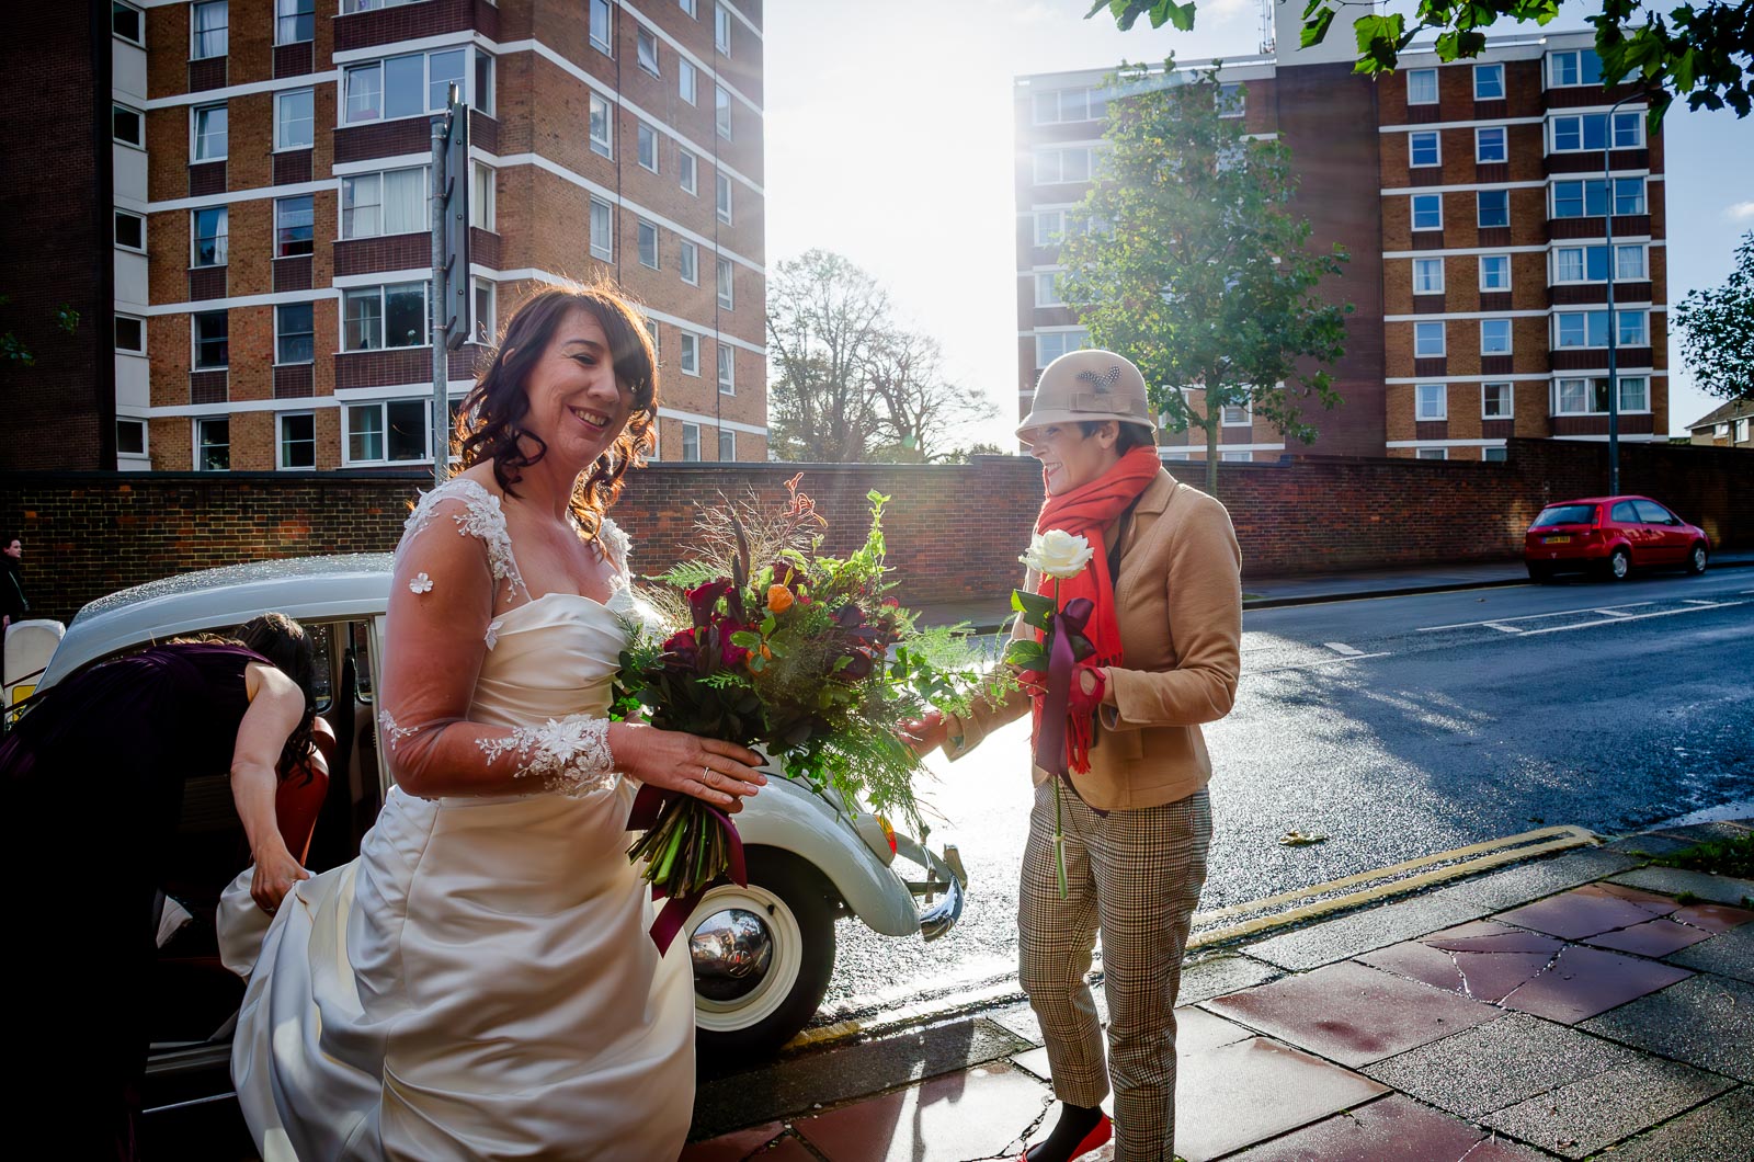
M 389 555 L 310 556 L 230 565 L 153 581 L 86 606 L 54 649 L 40 686 L 147 641 L 219 632 L 279 609 L 319 651 L 319 711 L 335 728 L 335 760 L 316 813 L 307 865 L 353 858 L 389 786 L 372 709 L 384 649 Z M 191 1101 L 174 1080 L 228 1060 L 242 983 L 217 962 L 212 907 L 247 860 L 225 772 L 191 772 L 161 885 L 153 1064 L 158 1102 Z M 712 888 L 684 934 L 695 962 L 702 1048 L 770 1051 L 816 1013 L 835 964 L 835 920 L 856 916 L 884 936 L 937 939 L 961 915 L 966 878 L 954 848 L 933 855 L 851 804 L 772 779 L 737 816 L 749 886 Z M 923 869 L 903 879 L 896 857 Z M 916 900 L 916 897 L 923 897 Z M 226 979 L 230 978 L 230 979 Z

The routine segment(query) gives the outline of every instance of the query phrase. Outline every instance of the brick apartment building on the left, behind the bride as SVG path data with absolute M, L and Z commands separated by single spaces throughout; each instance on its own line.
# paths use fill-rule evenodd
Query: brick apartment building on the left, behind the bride
M 658 341 L 660 456 L 766 458 L 759 0 L 98 11 L 114 451 L 72 467 L 431 462 L 426 165 L 447 82 L 472 107 L 453 407 L 521 298 L 610 274 Z M 86 191 L 44 176 L 32 197 Z

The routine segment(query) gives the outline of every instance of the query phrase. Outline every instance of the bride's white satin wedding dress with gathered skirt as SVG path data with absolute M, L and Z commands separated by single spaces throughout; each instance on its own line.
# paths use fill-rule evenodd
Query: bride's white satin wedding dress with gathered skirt
M 500 614 L 468 718 L 605 714 L 623 602 L 549 593 Z M 633 790 L 391 790 L 360 858 L 296 885 L 265 937 L 249 872 L 233 885 L 221 941 L 249 990 L 232 1072 L 267 1162 L 677 1157 L 693 979 L 686 941 L 660 957 L 645 934 Z

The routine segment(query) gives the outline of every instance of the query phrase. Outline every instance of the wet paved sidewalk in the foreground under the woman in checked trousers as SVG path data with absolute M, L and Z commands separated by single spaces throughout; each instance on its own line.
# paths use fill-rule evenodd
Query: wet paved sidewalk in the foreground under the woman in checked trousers
M 1749 1157 L 1754 881 L 1645 864 L 1750 830 L 1633 836 L 1189 964 L 1180 1157 Z M 703 1081 L 682 1162 L 1014 1158 L 1051 1108 L 1021 1004 Z

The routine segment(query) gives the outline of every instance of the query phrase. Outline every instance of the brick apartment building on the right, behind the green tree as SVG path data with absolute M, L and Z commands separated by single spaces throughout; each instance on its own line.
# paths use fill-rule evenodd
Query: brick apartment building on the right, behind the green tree
M 1308 451 L 1501 460 L 1510 435 L 1607 439 L 1610 325 L 1621 439 L 1666 439 L 1663 142 L 1647 139 L 1642 100 L 1610 109 L 1633 90 L 1601 88 L 1594 33 L 1494 39 L 1451 65 L 1403 53 L 1400 72 L 1370 81 L 1352 74 L 1349 28 L 1296 49 L 1300 12 L 1275 7 L 1291 47 L 1226 60 L 1219 81 L 1237 86 L 1230 116 L 1291 147 L 1310 246 L 1351 253 L 1324 284 L 1356 307 L 1335 367 L 1345 404 L 1310 416 Z M 1103 75 L 1017 79 L 1019 414 L 1040 369 L 1087 342 L 1052 279 L 1102 147 Z M 1205 458 L 1201 432 L 1163 441 L 1166 458 Z M 1272 425 L 1226 409 L 1224 460 L 1284 451 Z

